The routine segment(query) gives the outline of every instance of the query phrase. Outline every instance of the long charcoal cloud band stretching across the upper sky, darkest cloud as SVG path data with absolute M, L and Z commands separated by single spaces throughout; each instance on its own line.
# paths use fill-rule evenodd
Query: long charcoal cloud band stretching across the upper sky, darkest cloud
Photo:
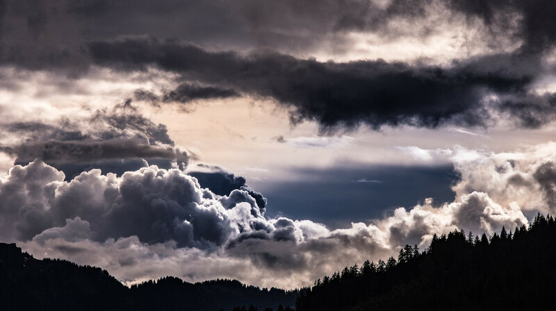
M 493 56 L 449 68 L 383 60 L 317 62 L 270 51 L 249 56 L 209 52 L 153 38 L 95 42 L 90 51 L 99 64 L 126 69 L 156 65 L 186 78 L 270 97 L 293 108 L 293 123 L 315 120 L 324 129 L 359 124 L 436 127 L 444 121 L 484 126 L 490 117 L 486 96 L 527 94 L 538 67 L 507 55 L 486 67 Z M 506 67 L 512 64 L 515 68 Z

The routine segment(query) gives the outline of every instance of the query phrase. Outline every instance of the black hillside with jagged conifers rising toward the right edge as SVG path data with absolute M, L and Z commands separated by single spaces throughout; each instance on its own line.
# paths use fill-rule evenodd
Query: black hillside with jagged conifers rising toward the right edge
M 551 310 L 555 291 L 556 221 L 537 215 L 513 233 L 454 231 L 423 253 L 345 268 L 302 291 L 296 310 Z

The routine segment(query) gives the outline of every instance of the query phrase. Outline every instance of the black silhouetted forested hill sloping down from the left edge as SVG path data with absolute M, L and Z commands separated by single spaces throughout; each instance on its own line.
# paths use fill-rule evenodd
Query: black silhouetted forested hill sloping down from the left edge
M 128 288 L 107 271 L 65 260 L 37 260 L 0 243 L 0 310 L 279 310 L 297 291 L 259 289 L 237 280 L 186 283 L 166 277 Z

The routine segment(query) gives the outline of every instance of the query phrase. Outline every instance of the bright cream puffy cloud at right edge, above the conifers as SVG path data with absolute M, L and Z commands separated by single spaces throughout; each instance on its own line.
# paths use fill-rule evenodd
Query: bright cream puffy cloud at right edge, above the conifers
M 499 154 L 458 147 L 452 160 L 461 181 L 453 190 L 457 197 L 473 191 L 487 193 L 500 205 L 516 204 L 528 217 L 553 213 L 554 150 L 554 142 Z

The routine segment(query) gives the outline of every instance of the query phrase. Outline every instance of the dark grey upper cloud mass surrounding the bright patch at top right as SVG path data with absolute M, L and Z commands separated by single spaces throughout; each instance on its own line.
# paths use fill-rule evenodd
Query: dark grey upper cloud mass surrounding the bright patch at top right
M 152 102 L 186 103 L 238 93 L 263 96 L 291 108 L 294 124 L 315 120 L 323 131 L 359 124 L 375 129 L 407 124 L 436 127 L 447 122 L 489 126 L 505 117 L 517 126 L 535 128 L 549 122 L 555 112 L 555 94 L 532 90 L 532 83 L 551 70 L 543 69 L 540 61 L 556 39 L 549 13 L 553 1 L 533 5 L 498 0 L 395 0 L 382 4 L 359 0 L 242 0 L 233 4 L 165 0 L 157 3 L 156 10 L 148 1 L 2 3 L 3 64 L 69 68 L 78 76 L 90 65 L 114 69 L 154 65 L 192 81 L 161 96 L 145 90 L 136 93 L 138 99 Z M 439 14 L 436 7 L 464 15 L 470 24 L 478 20 L 494 41 L 496 36 L 510 37 L 521 41 L 521 47 L 512 53 L 461 60 L 449 67 L 382 60 L 317 62 L 289 56 L 288 49 L 281 48 L 295 45 L 291 42 L 300 40 L 293 39 L 297 33 L 304 34 L 304 42 L 329 35 L 341 38 L 349 31 L 379 33 L 386 40 L 396 36 L 386 26 L 391 19 L 426 20 L 427 15 Z M 125 20 L 120 18 L 123 15 Z M 180 18 L 172 18 L 177 15 Z M 145 34 L 161 40 L 145 39 Z M 121 39 L 133 35 L 135 39 Z M 268 47 L 284 53 L 260 50 L 245 54 L 257 44 L 240 43 L 241 49 L 229 44 L 242 35 L 268 41 Z M 163 39 L 167 37 L 173 39 Z M 222 48 L 241 52 L 218 52 Z M 195 84 L 198 82 L 205 85 Z

